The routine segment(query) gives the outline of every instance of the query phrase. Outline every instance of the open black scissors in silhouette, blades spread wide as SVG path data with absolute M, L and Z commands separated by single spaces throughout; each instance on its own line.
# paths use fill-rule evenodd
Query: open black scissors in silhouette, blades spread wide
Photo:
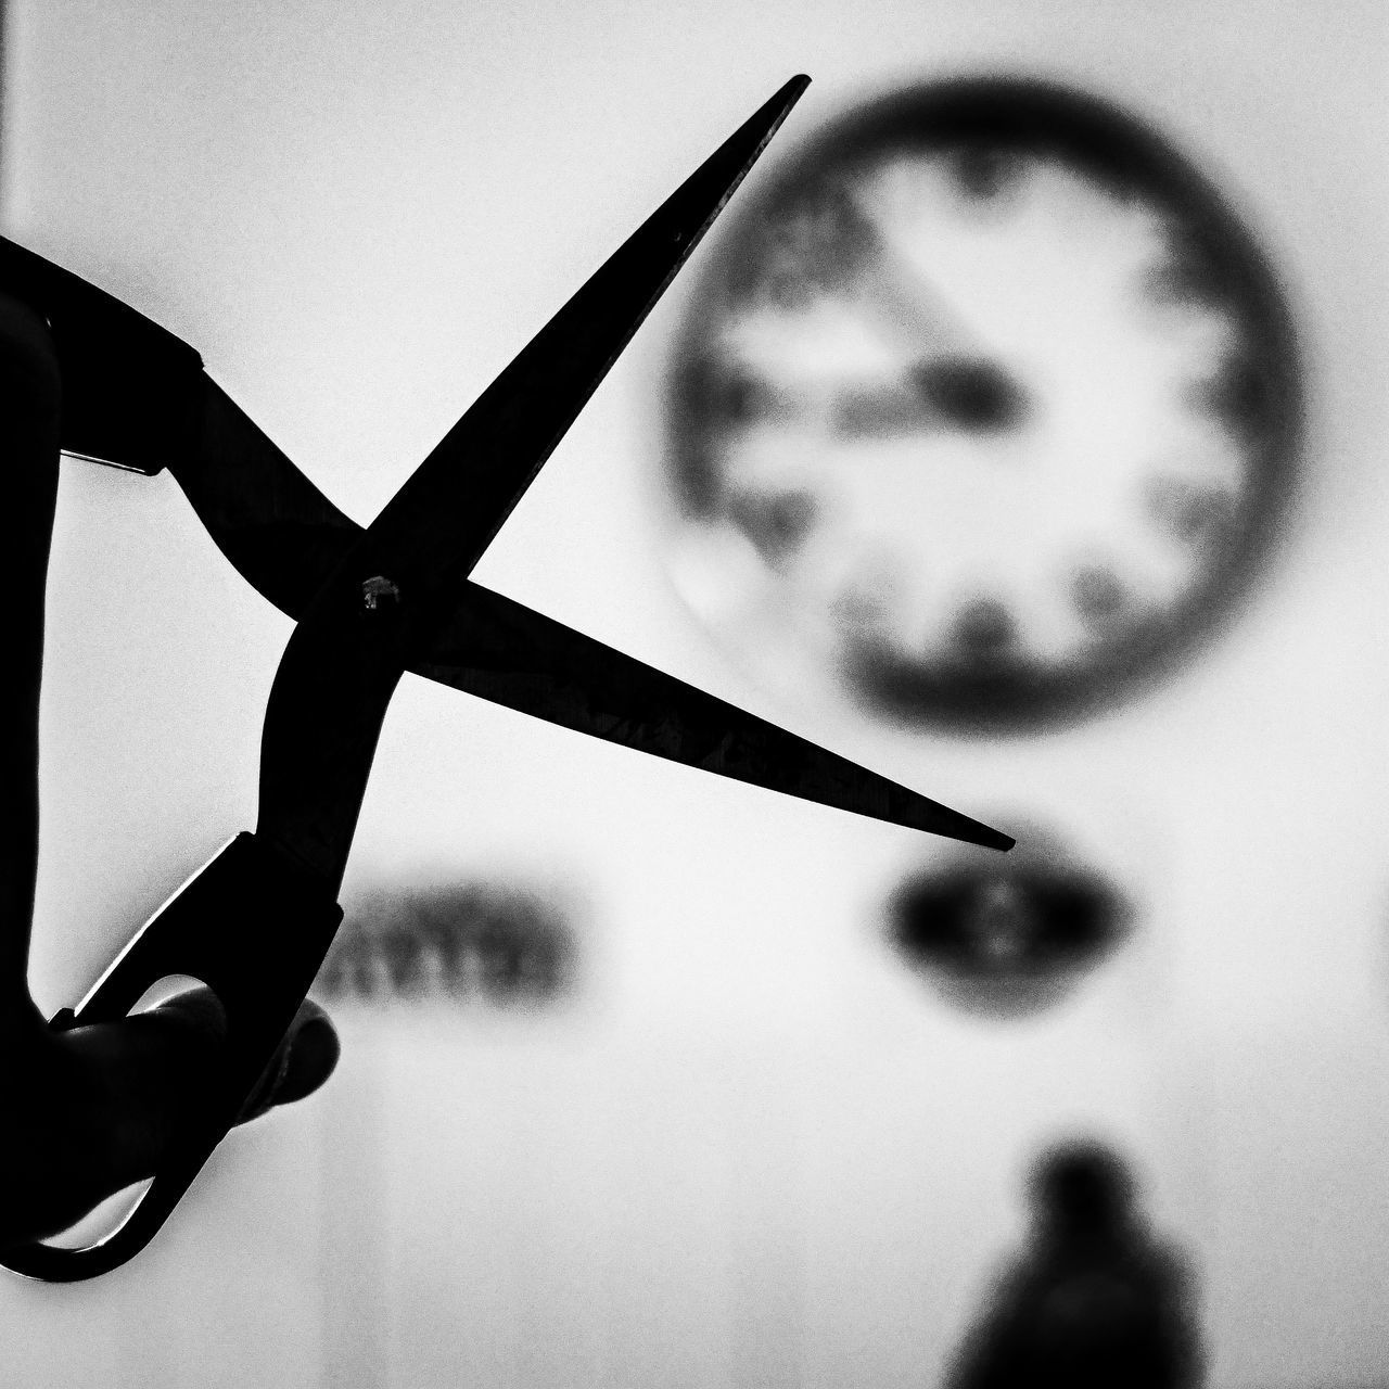
M 0 240 L 0 286 L 43 314 L 58 353 L 61 450 L 147 475 L 168 467 L 226 558 L 296 619 L 265 708 L 254 833 L 231 839 L 76 1008 L 50 1021 L 60 1029 L 115 1021 L 157 981 L 192 975 L 225 1010 L 228 1081 L 114 1231 L 81 1249 L 15 1246 L 0 1264 L 50 1282 L 119 1267 L 157 1233 L 232 1128 L 342 920 L 347 854 L 406 671 L 724 776 L 1011 847 L 1007 835 L 468 578 L 808 82 L 782 86 L 657 208 L 365 529 L 251 424 L 189 344 Z

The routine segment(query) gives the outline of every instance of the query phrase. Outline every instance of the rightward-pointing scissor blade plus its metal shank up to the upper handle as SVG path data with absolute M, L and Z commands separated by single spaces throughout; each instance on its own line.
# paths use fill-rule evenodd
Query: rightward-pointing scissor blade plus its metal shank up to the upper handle
M 222 553 L 296 619 L 363 533 L 211 381 L 200 454 L 169 471 Z M 878 795 L 875 774 L 850 775 L 843 758 L 471 581 L 408 668 L 689 767 L 953 839 L 1011 845 L 903 786 Z

